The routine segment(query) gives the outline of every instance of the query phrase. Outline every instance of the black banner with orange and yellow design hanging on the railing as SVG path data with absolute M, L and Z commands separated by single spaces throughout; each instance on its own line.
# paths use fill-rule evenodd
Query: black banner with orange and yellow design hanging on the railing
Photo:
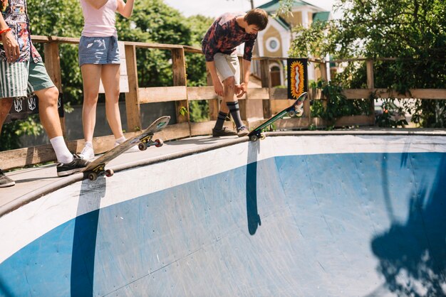
M 286 59 L 288 68 L 288 99 L 297 99 L 308 90 L 308 59 Z

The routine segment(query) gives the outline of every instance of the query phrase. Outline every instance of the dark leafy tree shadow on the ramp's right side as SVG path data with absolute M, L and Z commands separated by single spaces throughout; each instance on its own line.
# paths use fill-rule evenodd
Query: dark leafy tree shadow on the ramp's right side
M 446 295 L 446 156 L 432 186 L 418 185 L 405 224 L 394 222 L 371 243 L 385 287 L 398 296 Z

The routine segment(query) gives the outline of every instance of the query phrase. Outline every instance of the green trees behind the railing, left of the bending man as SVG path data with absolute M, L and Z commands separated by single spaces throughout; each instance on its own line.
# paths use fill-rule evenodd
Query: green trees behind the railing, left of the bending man
M 78 0 L 28 1 L 28 13 L 33 35 L 80 37 L 83 14 Z M 190 16 L 185 18 L 162 0 L 138 0 L 130 19 L 117 14 L 116 28 L 120 41 L 201 45 L 202 37 L 212 18 Z M 43 45 L 36 43 L 43 55 Z M 83 87 L 78 65 L 78 46 L 60 44 L 63 97 L 66 107 L 82 104 Z M 44 58 L 44 57 L 43 57 Z M 204 57 L 186 55 L 187 84 L 206 85 Z M 172 86 L 172 60 L 170 50 L 137 49 L 138 79 L 140 87 Z M 191 117 L 196 121 L 207 118 L 207 102 L 191 104 Z M 66 108 L 67 110 L 67 108 Z M 19 147 L 19 136 L 42 131 L 34 119 L 4 126 L 0 149 Z

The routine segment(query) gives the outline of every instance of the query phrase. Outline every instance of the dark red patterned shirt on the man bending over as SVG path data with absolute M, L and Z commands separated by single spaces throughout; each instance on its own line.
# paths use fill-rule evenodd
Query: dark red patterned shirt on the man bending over
M 236 21 L 242 13 L 224 13 L 212 23 L 202 41 L 202 51 L 207 62 L 214 60 L 216 53 L 231 55 L 237 46 L 244 43 L 244 60 L 251 60 L 257 34 L 248 34 Z

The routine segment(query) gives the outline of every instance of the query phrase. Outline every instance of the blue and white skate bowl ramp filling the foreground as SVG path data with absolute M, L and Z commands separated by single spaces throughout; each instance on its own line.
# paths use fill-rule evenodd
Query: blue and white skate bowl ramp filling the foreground
M 441 296 L 446 137 L 271 136 L 74 183 L 0 228 L 1 296 Z

